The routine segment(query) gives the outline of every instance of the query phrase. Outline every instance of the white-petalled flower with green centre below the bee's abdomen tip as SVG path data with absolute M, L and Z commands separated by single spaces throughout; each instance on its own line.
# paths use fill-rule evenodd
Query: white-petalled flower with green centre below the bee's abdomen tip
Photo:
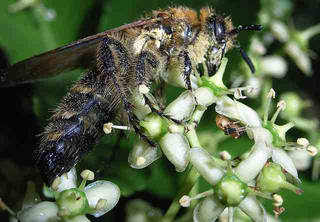
M 21 210 L 16 217 L 21 222 L 32 221 L 89 221 L 85 214 L 95 217 L 111 210 L 120 197 L 120 189 L 109 181 L 95 181 L 85 186 L 86 180 L 93 180 L 94 173 L 90 170 L 81 172 L 82 182 L 76 185 L 76 172 L 69 172 L 56 177 L 51 187 L 43 187 L 45 197 L 55 201 L 41 201 L 36 193 L 34 183 L 28 182 Z M 12 215 L 15 215 L 11 211 Z

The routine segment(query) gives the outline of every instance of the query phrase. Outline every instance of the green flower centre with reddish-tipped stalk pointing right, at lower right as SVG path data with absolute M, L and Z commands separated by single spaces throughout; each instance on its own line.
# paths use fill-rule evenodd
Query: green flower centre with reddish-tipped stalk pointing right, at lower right
M 274 193 L 286 188 L 297 194 L 301 193 L 301 189 L 286 181 L 281 166 L 273 162 L 264 165 L 256 179 L 255 186 L 261 192 Z

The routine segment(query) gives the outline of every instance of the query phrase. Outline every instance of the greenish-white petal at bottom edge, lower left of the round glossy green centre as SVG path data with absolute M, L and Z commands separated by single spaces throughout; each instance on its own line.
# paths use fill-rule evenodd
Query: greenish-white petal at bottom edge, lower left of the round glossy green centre
M 214 222 L 225 206 L 215 196 L 207 196 L 193 210 L 194 222 Z

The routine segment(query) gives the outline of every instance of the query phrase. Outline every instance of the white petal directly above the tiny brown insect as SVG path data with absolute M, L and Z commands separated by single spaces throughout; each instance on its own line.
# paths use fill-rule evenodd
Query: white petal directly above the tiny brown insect
M 215 111 L 229 118 L 240 120 L 245 126 L 262 125 L 262 121 L 256 111 L 226 95 L 217 98 Z

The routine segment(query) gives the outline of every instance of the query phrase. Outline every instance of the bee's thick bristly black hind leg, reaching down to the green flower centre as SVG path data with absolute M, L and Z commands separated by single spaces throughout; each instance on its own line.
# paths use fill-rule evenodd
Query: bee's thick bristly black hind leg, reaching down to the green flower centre
M 130 60 L 128 49 L 121 43 L 121 40 L 110 36 L 106 36 L 101 40 L 97 50 L 97 68 L 105 78 L 107 88 L 109 87 L 109 90 L 113 90 L 113 96 L 115 97 L 113 103 L 120 101 L 123 104 L 124 112 L 134 132 L 148 144 L 155 146 L 156 144 L 140 131 L 138 120 L 132 112 L 132 104 L 128 100 L 128 88 L 123 77 L 129 71 L 128 64 Z

